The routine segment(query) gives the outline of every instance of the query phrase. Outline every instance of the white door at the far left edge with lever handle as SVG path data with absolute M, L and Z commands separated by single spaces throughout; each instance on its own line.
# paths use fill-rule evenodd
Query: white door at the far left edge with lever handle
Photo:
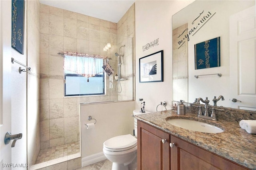
M 11 145 L 4 137 L 11 132 L 11 0 L 0 0 L 0 169 L 11 163 Z

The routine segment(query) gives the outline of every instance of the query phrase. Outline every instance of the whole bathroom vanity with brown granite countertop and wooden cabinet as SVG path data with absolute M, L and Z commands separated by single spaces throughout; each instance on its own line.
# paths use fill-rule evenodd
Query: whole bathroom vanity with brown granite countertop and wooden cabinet
M 194 111 L 194 108 L 186 107 L 186 115 L 167 110 L 136 116 L 138 169 L 256 169 L 256 135 L 246 133 L 237 120 L 226 121 L 225 116 L 219 116 L 218 121 L 209 121 L 198 118 Z M 251 115 L 250 112 L 247 114 Z M 242 116 L 246 117 L 246 114 L 242 113 Z M 212 124 L 224 132 L 191 131 L 167 122 L 177 118 Z

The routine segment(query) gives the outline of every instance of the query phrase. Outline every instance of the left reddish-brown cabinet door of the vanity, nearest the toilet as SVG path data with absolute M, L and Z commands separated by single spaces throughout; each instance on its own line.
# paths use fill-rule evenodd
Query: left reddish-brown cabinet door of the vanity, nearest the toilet
M 169 144 L 169 133 L 138 121 L 138 170 L 170 170 Z

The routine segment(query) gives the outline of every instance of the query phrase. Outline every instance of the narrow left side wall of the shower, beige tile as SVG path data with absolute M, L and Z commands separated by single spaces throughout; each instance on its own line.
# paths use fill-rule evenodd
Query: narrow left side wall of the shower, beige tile
M 40 113 L 39 113 L 39 84 L 40 84 L 40 3 L 27 1 L 28 6 L 28 66 L 31 72 L 27 76 L 27 133 L 28 133 L 28 165 L 36 162 L 40 151 Z

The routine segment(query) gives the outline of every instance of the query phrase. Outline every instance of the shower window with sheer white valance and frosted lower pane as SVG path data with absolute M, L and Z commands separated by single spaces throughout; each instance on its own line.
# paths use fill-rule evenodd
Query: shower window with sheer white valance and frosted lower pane
M 105 94 L 103 59 L 65 56 L 64 96 Z

